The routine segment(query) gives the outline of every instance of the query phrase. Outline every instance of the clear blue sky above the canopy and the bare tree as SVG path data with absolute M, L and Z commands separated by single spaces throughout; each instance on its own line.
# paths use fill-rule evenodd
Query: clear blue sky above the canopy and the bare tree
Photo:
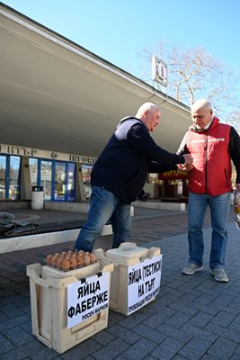
M 140 77 L 139 55 L 160 40 L 203 47 L 240 80 L 238 0 L 4 0 L 4 4 Z M 240 84 L 237 85 L 240 103 Z

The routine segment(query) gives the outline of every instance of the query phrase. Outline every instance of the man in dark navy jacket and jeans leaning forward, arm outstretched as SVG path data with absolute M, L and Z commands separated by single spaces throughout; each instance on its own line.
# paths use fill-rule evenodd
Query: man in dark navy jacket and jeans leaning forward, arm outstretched
M 149 135 L 161 112 L 155 103 L 144 103 L 136 117 L 120 121 L 91 174 L 92 194 L 88 219 L 76 240 L 75 248 L 91 252 L 104 225 L 111 220 L 112 247 L 129 241 L 130 203 L 138 198 L 147 173 L 160 173 L 191 164 L 190 154 L 176 155 L 160 148 Z

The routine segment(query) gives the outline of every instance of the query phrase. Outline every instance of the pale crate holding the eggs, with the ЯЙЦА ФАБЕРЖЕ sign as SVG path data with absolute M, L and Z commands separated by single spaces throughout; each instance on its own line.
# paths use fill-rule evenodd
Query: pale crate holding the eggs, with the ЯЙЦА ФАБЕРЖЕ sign
M 98 311 L 89 311 L 82 317 L 81 322 L 69 327 L 68 320 L 72 320 L 74 315 L 74 307 L 68 307 L 67 304 L 67 287 L 69 285 L 82 289 L 81 284 L 86 284 L 84 293 L 87 292 L 86 286 L 88 279 L 92 276 L 104 275 L 108 281 L 107 287 L 110 292 L 111 272 L 114 265 L 110 259 L 104 257 L 103 251 L 99 251 L 97 262 L 93 265 L 76 268 L 66 273 L 53 268 L 51 266 L 41 266 L 33 264 L 27 266 L 27 275 L 30 277 L 31 289 L 31 321 L 33 334 L 47 347 L 53 348 L 62 354 L 71 347 L 84 341 L 86 338 L 92 337 L 108 325 L 108 304 L 102 311 L 100 307 Z M 108 273 L 108 274 L 106 274 Z M 98 282 L 99 284 L 99 282 Z M 105 285 L 106 286 L 106 285 Z M 89 287 L 90 289 L 90 287 Z M 97 293 L 97 288 L 93 288 L 90 293 Z M 83 293 L 83 292 L 82 292 Z M 108 296 L 107 291 L 104 293 L 105 300 Z M 92 296 L 92 295 L 90 295 Z M 93 302 L 96 303 L 96 296 L 92 300 L 84 301 L 84 309 L 90 308 Z M 102 296 L 101 294 L 99 297 Z M 79 295 L 80 297 L 80 295 Z M 94 299 L 94 300 L 93 300 Z M 79 299 L 79 302 L 81 299 Z M 83 303 L 83 302 L 82 302 Z M 81 302 L 80 302 L 81 304 Z M 78 303 L 78 316 L 81 316 L 81 309 Z M 82 305 L 83 306 L 83 305 Z M 69 318 L 69 314 L 70 317 Z M 83 320 L 84 319 L 84 320 Z M 71 326 L 71 325 L 70 325 Z

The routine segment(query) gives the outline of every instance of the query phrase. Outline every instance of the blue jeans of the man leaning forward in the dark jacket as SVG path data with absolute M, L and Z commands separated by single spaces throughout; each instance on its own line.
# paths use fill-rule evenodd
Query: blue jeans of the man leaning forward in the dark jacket
M 92 252 L 94 242 L 102 236 L 108 220 L 111 220 L 113 232 L 112 247 L 129 241 L 130 205 L 102 187 L 93 186 L 88 217 L 76 239 L 75 249 Z

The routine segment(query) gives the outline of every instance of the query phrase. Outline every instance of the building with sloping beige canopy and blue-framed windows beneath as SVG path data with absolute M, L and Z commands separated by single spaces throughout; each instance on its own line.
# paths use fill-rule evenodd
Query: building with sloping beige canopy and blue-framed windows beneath
M 85 202 L 95 159 L 121 118 L 160 106 L 153 136 L 174 152 L 188 106 L 0 4 L 0 202 Z M 159 193 L 158 193 L 159 195 Z

